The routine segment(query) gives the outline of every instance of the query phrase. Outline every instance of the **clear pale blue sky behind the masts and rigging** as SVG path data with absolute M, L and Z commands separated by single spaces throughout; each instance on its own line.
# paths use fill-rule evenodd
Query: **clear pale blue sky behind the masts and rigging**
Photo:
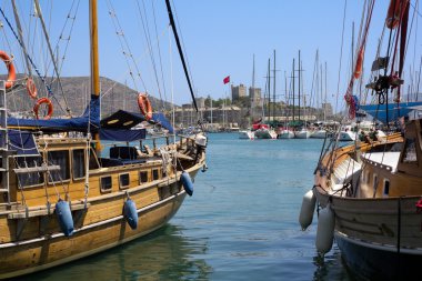
M 23 14 L 23 32 L 29 34 L 27 42 L 31 46 L 31 56 L 40 72 L 52 74 L 41 27 L 33 17 L 30 17 L 33 13 L 33 7 L 28 4 L 29 0 L 17 2 L 19 12 Z M 74 13 L 78 2 L 78 13 Z M 416 4 L 414 0 L 411 2 L 410 13 L 412 17 Z M 354 34 L 358 37 L 363 0 L 172 0 L 172 3 L 179 36 L 182 38 L 194 92 L 198 97 L 230 98 L 231 84 L 243 83 L 250 87 L 252 84 L 253 56 L 255 58 L 255 87 L 263 89 L 268 60 L 271 59 L 272 70 L 275 50 L 277 99 L 284 101 L 284 76 L 288 77 L 290 84 L 292 61 L 295 59 L 298 62 L 300 50 L 303 90 L 308 93 L 308 102 L 318 107 L 316 99 L 311 97 L 311 88 L 315 52 L 319 50 L 320 64 L 325 66 L 326 62 L 326 99 L 333 104 L 335 104 L 336 97 L 340 97 L 339 101 L 342 100 L 341 97 L 345 92 L 351 73 L 352 24 L 354 22 Z M 365 77 L 369 77 L 369 71 L 365 69 L 370 69 L 369 66 L 376 52 L 388 3 L 388 0 L 379 0 L 374 7 L 365 50 Z M 64 37 L 71 36 L 68 49 L 66 48 L 67 41 L 59 41 L 58 52 L 60 56 L 67 50 L 61 76 L 89 76 L 88 1 L 46 0 L 41 1 L 41 4 L 52 44 L 56 47 L 63 27 L 66 27 Z M 70 33 L 70 23 L 73 21 L 68 19 L 68 24 L 64 26 L 64 23 L 72 4 L 71 16 L 76 16 L 76 19 Z M 0 1 L 0 7 L 16 28 L 10 1 Z M 110 12 L 113 17 L 110 16 Z M 420 30 L 421 14 L 422 10 L 419 8 L 412 27 L 413 37 L 409 43 L 406 62 L 410 64 L 405 68 L 405 71 L 409 70 L 408 72 L 411 72 L 412 68 L 413 72 L 419 71 L 422 39 L 415 38 L 414 33 Z M 24 71 L 23 60 L 19 54 L 19 43 L 11 34 L 4 19 L 0 19 L 3 22 L 0 48 L 12 52 L 17 58 L 17 64 L 20 63 L 18 70 Z M 151 48 L 148 47 L 143 31 L 147 23 L 150 30 Z M 100 74 L 128 83 L 139 91 L 147 90 L 150 94 L 165 98 L 169 101 L 171 101 L 173 90 L 174 103 L 191 102 L 188 83 L 168 23 L 164 0 L 154 0 L 153 2 L 151 0 L 100 0 Z M 117 36 L 121 31 L 124 37 Z M 419 33 L 421 32 L 419 31 Z M 342 46 L 343 49 L 341 49 Z M 151 60 L 150 50 L 153 52 L 154 63 Z M 128 56 L 123 56 L 123 52 L 132 53 L 137 64 L 134 66 Z M 6 71 L 6 68 L 2 71 Z M 139 72 L 142 81 L 137 76 L 135 79 L 132 79 L 130 72 L 134 76 Z M 230 76 L 231 83 L 223 84 L 227 76 Z M 164 87 L 162 86 L 163 80 L 165 81 Z M 160 87 L 157 81 L 160 81 Z M 102 89 L 102 92 L 107 92 L 107 89 Z M 342 101 L 339 103 L 338 110 L 341 109 L 341 104 Z

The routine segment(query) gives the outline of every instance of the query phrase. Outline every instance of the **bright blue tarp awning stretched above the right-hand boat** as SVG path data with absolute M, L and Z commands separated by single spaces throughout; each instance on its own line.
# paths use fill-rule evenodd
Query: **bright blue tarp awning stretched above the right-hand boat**
M 360 106 L 360 109 L 372 116 L 380 122 L 388 123 L 398 120 L 401 117 L 408 116 L 412 110 L 412 107 L 422 106 L 422 102 L 401 102 L 384 104 L 366 104 Z M 386 116 L 389 111 L 389 116 Z

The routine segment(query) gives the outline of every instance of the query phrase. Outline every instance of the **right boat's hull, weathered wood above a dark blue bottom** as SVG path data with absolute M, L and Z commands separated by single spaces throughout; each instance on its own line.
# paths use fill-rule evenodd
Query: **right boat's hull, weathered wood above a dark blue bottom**
M 419 197 L 353 199 L 314 193 L 335 215 L 334 238 L 346 264 L 370 280 L 406 280 L 422 264 L 422 213 Z M 398 247 L 400 245 L 400 247 Z M 400 254 L 399 254 L 400 252 Z M 408 278 L 406 278 L 408 277 Z

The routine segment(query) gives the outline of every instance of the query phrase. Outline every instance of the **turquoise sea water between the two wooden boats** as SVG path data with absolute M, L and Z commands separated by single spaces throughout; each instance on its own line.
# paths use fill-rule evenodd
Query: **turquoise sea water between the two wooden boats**
M 164 228 L 21 280 L 354 280 L 335 243 L 318 257 L 316 218 L 298 222 L 323 140 L 209 137 L 209 170 Z

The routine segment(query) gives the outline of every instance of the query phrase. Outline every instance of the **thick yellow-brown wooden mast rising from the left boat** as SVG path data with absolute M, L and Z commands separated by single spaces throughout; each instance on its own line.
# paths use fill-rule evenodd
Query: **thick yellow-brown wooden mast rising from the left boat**
M 98 56 L 97 0 L 90 0 L 90 42 L 91 42 L 91 99 L 100 99 L 100 67 Z M 101 114 L 100 114 L 101 116 Z M 100 134 L 94 133 L 96 152 L 101 151 Z

